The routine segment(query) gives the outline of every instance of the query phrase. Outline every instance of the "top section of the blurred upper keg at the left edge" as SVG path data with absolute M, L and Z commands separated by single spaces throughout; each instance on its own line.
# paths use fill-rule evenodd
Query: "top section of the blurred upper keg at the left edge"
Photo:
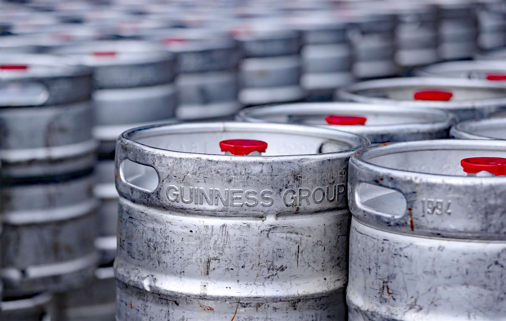
M 59 105 L 91 98 L 92 71 L 50 55 L 2 55 L 0 106 Z

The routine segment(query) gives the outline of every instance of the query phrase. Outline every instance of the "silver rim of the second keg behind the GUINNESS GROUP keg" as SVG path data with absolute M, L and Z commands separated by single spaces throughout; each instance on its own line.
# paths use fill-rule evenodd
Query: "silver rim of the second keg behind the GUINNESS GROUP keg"
M 462 101 L 416 101 L 416 100 L 395 100 L 388 98 L 368 97 L 356 94 L 357 91 L 381 89 L 389 86 L 409 87 L 409 86 L 442 86 L 442 87 L 471 87 L 471 88 L 484 88 L 484 89 L 504 89 L 504 97 L 502 98 L 487 98 L 479 100 L 462 100 Z M 506 84 L 496 83 L 494 81 L 482 79 L 462 79 L 462 78 L 447 78 L 447 77 L 397 77 L 388 79 L 375 79 L 357 82 L 347 87 L 335 91 L 336 98 L 367 104 L 389 105 L 396 104 L 406 107 L 431 107 L 443 109 L 459 109 L 462 107 L 476 108 L 488 107 L 494 104 L 506 103 Z

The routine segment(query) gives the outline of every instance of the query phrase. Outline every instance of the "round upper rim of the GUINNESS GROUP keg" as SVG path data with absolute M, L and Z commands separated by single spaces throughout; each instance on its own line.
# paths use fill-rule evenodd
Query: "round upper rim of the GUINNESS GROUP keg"
M 331 153 L 319 153 L 319 154 L 297 154 L 297 155 L 270 155 L 270 156 L 248 156 L 248 157 L 241 157 L 241 156 L 234 156 L 234 155 L 220 155 L 220 154 L 203 154 L 203 153 L 192 153 L 192 152 L 181 152 L 181 151 L 175 151 L 175 150 L 167 150 L 167 149 L 161 149 L 152 147 L 149 145 L 145 145 L 142 143 L 137 142 L 137 139 L 146 138 L 153 135 L 148 136 L 136 136 L 137 134 L 141 133 L 165 133 L 166 130 L 172 129 L 174 132 L 177 132 L 177 129 L 183 129 L 183 130 L 191 130 L 191 129 L 203 129 L 203 132 L 216 132 L 216 131 L 234 131 L 234 130 L 248 130 L 249 131 L 256 131 L 256 130 L 265 130 L 276 133 L 276 132 L 300 132 L 301 134 L 312 134 L 313 136 L 320 136 L 320 137 L 327 137 L 330 140 L 339 141 L 341 143 L 345 143 L 348 145 L 353 145 L 354 147 L 339 151 L 339 152 L 331 152 Z M 170 131 L 169 131 L 170 133 Z M 156 135 L 156 134 L 155 134 Z M 144 150 L 145 152 L 156 152 L 156 153 L 162 153 L 167 156 L 180 156 L 185 158 L 192 158 L 192 157 L 198 157 L 198 158 L 208 158 L 208 159 L 214 159 L 214 160 L 230 160 L 230 157 L 234 157 L 235 161 L 246 161 L 246 162 L 254 162 L 254 161 L 262 161 L 266 159 L 272 159 L 276 158 L 279 160 L 283 159 L 290 159 L 294 160 L 294 158 L 297 159 L 303 159 L 303 158 L 311 158 L 311 159 L 319 159 L 319 158 L 328 158 L 332 155 L 346 155 L 346 154 L 353 154 L 354 152 L 370 146 L 369 140 L 359 134 L 354 134 L 346 131 L 341 130 L 334 130 L 334 129 L 326 129 L 326 128 L 319 128 L 314 126 L 305 126 L 305 125 L 293 125 L 293 124 L 279 124 L 279 123 L 247 123 L 247 122 L 196 122 L 196 123 L 177 123 L 177 124 L 155 124 L 155 125 L 148 125 L 148 126 L 141 126 L 133 129 L 129 129 L 121 133 L 121 135 L 118 137 L 118 141 L 116 143 L 116 149 L 119 145 L 132 145 L 136 146 L 138 149 Z

